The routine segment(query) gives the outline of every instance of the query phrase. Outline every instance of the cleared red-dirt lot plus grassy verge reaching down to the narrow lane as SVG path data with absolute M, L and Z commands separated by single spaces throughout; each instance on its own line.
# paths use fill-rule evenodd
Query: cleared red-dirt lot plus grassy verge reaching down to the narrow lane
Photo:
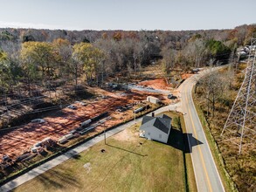
M 133 110 L 137 107 L 149 106 L 147 110 L 152 110 L 156 105 L 142 102 L 149 94 L 162 97 L 152 93 L 104 91 L 101 96 L 86 100 L 86 103 L 83 103 L 85 105 L 74 102 L 73 106 L 76 109 L 66 107 L 58 112 L 45 115 L 44 123 L 28 123 L 15 129 L 1 130 L 0 157 L 7 154 L 10 161 L 0 160 L 0 182 L 3 182 L 7 176 L 15 175 L 17 171 L 27 168 L 56 151 L 92 137 L 105 128 L 134 118 Z M 89 131 L 84 127 L 81 127 L 81 130 L 77 129 L 81 122 L 95 118 L 102 113 L 109 115 L 107 120 L 93 121 L 86 127 Z M 73 131 L 75 134 L 70 136 L 69 133 Z M 69 135 L 71 139 L 63 140 L 65 135 Z M 38 142 L 49 137 L 53 141 L 59 141 L 59 145 L 46 143 L 47 145 L 44 144 L 42 147 L 34 147 Z M 33 153 L 30 152 L 31 147 Z

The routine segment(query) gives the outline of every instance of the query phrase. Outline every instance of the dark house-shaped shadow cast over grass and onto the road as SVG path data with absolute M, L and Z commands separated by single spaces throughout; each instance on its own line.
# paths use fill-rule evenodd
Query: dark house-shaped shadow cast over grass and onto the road
M 183 134 L 183 131 L 172 128 L 167 142 L 171 147 L 183 151 L 185 154 L 192 153 L 192 147 L 203 144 L 193 137 L 192 134 Z

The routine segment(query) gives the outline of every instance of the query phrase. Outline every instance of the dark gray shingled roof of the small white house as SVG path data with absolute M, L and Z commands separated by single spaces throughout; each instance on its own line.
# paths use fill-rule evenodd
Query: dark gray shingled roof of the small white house
M 165 114 L 156 117 L 144 116 L 140 129 L 144 130 L 147 127 L 156 127 L 163 133 L 168 134 L 170 130 L 171 118 Z

